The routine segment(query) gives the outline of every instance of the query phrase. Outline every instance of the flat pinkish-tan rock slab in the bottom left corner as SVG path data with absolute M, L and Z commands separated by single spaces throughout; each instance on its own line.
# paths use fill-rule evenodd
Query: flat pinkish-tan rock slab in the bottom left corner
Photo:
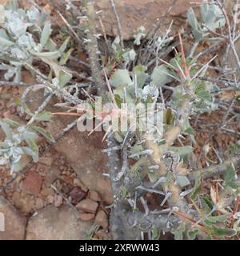
M 2 213 L 1 229 L 5 230 L 0 231 L 0 240 L 23 240 L 25 238 L 26 218 L 2 196 L 0 196 L 0 213 Z

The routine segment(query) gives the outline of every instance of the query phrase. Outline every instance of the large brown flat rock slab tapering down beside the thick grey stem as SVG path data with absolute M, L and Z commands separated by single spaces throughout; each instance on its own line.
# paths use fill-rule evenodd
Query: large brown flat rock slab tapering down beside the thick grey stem
M 58 116 L 48 123 L 48 130 L 54 135 L 60 134 L 62 129 L 70 123 L 71 119 Z M 113 202 L 110 179 L 103 176 L 107 173 L 107 157 L 102 153 L 105 143 L 102 142 L 104 134 L 95 132 L 79 132 L 76 127 L 70 130 L 58 143 L 54 150 L 64 154 L 66 161 L 74 168 L 81 182 L 89 190 L 95 190 L 107 204 Z

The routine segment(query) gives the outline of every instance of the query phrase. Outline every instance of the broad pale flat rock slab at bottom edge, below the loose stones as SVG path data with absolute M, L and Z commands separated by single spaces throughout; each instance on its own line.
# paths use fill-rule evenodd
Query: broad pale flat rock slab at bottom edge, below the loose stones
M 46 206 L 29 219 L 26 240 L 83 240 L 92 222 L 82 222 L 70 206 Z

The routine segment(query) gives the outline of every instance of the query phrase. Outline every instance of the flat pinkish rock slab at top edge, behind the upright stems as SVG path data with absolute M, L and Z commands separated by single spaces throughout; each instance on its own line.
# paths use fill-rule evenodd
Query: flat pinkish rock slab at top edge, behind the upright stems
M 164 17 L 171 2 L 172 0 L 115 0 L 116 10 L 122 26 L 122 37 L 126 40 L 132 38 L 140 26 L 144 26 L 146 32 L 150 31 L 157 19 Z M 118 27 L 110 1 L 98 0 L 95 5 L 97 10 L 103 10 L 102 22 L 106 34 L 116 37 Z M 193 5 L 190 5 L 189 0 L 178 0 L 170 14 L 162 20 L 160 31 L 165 32 L 172 20 L 174 20 L 173 30 L 179 30 L 180 26 L 186 22 L 186 11 L 190 6 Z

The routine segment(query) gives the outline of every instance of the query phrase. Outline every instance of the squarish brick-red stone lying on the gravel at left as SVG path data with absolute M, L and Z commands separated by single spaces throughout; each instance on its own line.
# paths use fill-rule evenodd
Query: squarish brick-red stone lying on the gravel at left
M 30 171 L 23 181 L 22 188 L 32 194 L 40 193 L 42 187 L 42 176 L 36 171 Z

